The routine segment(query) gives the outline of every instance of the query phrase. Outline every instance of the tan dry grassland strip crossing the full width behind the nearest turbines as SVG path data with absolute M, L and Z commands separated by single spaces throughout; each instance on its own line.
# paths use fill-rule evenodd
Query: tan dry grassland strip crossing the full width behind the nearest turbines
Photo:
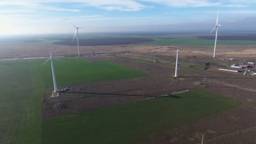
M 115 53 L 144 53 L 163 56 L 175 56 L 178 45 L 104 45 L 104 46 L 80 46 L 82 56 L 115 54 Z M 218 45 L 217 57 L 243 58 L 256 55 L 256 45 Z M 53 56 L 77 56 L 77 46 L 56 45 L 47 43 L 2 43 L 0 46 L 0 59 L 49 56 L 51 50 Z M 182 45 L 181 56 L 212 56 L 212 46 Z

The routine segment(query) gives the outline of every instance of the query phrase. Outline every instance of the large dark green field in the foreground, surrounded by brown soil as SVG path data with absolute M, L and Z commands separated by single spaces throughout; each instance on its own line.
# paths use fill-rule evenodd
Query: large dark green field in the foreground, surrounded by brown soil
M 215 115 L 241 103 L 205 91 L 189 91 L 83 115 L 43 120 L 43 144 L 125 144 Z

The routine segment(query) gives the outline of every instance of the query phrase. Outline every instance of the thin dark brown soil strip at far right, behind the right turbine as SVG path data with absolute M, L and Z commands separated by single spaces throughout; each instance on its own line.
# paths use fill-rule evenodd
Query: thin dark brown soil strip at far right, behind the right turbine
M 205 40 L 215 40 L 215 36 L 197 37 Z M 256 40 L 256 35 L 219 35 L 218 40 Z

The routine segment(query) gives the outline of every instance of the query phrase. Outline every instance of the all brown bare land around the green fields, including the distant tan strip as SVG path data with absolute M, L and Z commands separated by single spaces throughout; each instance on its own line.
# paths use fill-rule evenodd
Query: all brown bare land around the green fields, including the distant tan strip
M 183 125 L 164 133 L 158 133 L 136 144 L 199 144 L 204 135 L 205 143 L 211 144 L 254 144 L 256 141 L 256 79 L 241 73 L 219 71 L 218 66 L 207 70 L 197 67 L 179 69 L 174 78 L 176 50 L 173 46 L 156 45 L 107 45 L 81 46 L 87 61 L 112 61 L 149 73 L 151 76 L 96 83 L 70 85 L 71 90 L 50 98 L 53 88 L 45 91 L 42 102 L 43 118 L 57 115 L 80 114 L 91 109 L 124 104 L 149 97 L 160 96 L 191 89 L 203 89 L 243 102 L 243 106 L 230 109 L 195 123 Z M 1 45 L 0 58 L 22 58 L 48 56 L 51 48 L 54 56 L 77 55 L 76 46 L 42 43 L 15 43 Z M 256 46 L 218 45 L 218 57 L 230 56 L 237 61 L 256 61 Z M 192 64 L 220 60 L 212 58 L 213 47 L 187 46 L 180 50 L 180 61 Z M 155 63 L 151 58 L 159 59 Z M 228 61 L 232 64 L 233 61 Z M 200 82 L 196 84 L 195 82 Z M 66 85 L 67 86 L 67 85 Z M 63 86 L 64 88 L 65 86 Z M 54 108 L 55 104 L 62 108 Z

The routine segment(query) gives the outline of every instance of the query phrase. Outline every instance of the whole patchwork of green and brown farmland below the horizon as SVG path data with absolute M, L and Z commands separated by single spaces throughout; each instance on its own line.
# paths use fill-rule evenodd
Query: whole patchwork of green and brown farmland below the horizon
M 165 42 L 205 41 L 195 35 L 183 36 L 141 37 Z M 255 77 L 218 69 L 230 67 L 238 61 L 255 62 L 256 45 L 218 45 L 216 59 L 212 58 L 211 45 L 182 45 L 179 77 L 174 78 L 175 48 L 179 44 L 81 46 L 82 57 L 77 59 L 72 57 L 77 56 L 77 45 L 55 45 L 54 40 L 59 40 L 56 36 L 52 39 L 46 38 L 53 40 L 48 41 L 49 43 L 38 41 L 45 40 L 42 37 L 35 39 L 6 42 L 0 46 L 1 59 L 18 58 L 16 61 L 0 60 L 0 143 L 56 143 L 49 131 L 55 132 L 57 140 L 62 135 L 67 142 L 71 141 L 70 137 L 74 137 L 81 143 L 133 141 L 136 144 L 162 144 L 172 141 L 194 144 L 200 142 L 203 134 L 207 143 L 255 141 L 252 137 L 256 135 L 256 90 L 253 88 L 256 84 Z M 251 42 L 246 41 L 247 44 Z M 50 98 L 53 91 L 50 62 L 40 67 L 45 60 L 19 59 L 49 56 L 48 48 L 53 56 L 69 56 L 61 58 L 66 62 L 54 61 L 58 88 L 68 85 L 71 87 L 69 91 L 61 92 L 58 98 Z M 222 61 L 223 57 L 235 60 Z M 157 62 L 154 62 L 155 59 Z M 205 63 L 212 67 L 205 70 Z M 188 93 L 137 101 L 187 89 Z M 190 101 L 193 104 L 187 104 Z M 243 105 L 240 106 L 242 102 Z M 53 108 L 56 103 L 67 107 L 58 108 L 56 111 Z M 216 103 L 219 107 L 211 105 Z M 181 104 L 180 109 L 177 108 L 178 104 Z M 157 119 L 149 113 L 160 118 Z M 116 117 L 116 120 L 112 117 Z M 175 121 L 176 119 L 180 121 Z M 100 125 L 95 125 L 95 122 Z M 81 127 L 75 123 L 79 123 Z M 88 131 L 85 127 L 89 128 Z M 69 129 L 71 131 L 66 133 Z M 81 133 L 84 135 L 80 135 Z M 96 135 L 98 138 L 102 136 L 102 140 L 96 139 Z M 113 135 L 117 137 L 111 137 Z

